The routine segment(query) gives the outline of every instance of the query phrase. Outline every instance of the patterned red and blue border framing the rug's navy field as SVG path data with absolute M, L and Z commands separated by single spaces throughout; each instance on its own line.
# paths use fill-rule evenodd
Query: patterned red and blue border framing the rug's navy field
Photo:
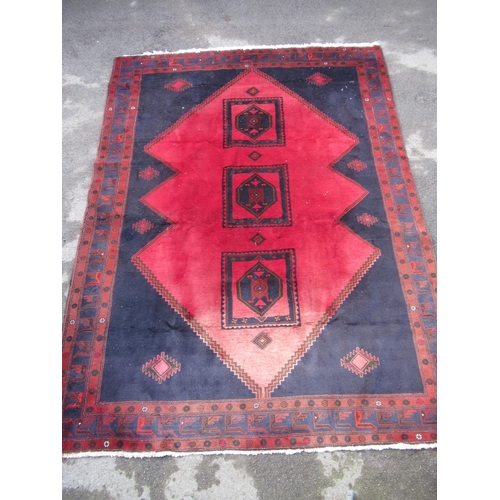
M 424 392 L 101 404 L 98 392 L 141 75 L 158 71 L 174 75 L 249 67 L 342 66 L 357 69 Z M 279 450 L 434 443 L 437 395 L 431 345 L 436 341 L 436 286 L 432 242 L 415 192 L 380 47 L 207 51 L 117 58 L 64 322 L 63 452 Z M 85 390 L 69 390 L 82 386 Z M 263 428 L 268 429 L 265 437 Z

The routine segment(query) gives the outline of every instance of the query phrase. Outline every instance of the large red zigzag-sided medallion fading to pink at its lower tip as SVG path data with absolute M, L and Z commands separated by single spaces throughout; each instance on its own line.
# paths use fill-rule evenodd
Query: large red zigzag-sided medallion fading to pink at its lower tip
M 380 255 L 341 222 L 367 191 L 332 167 L 358 143 L 251 68 L 144 147 L 177 174 L 141 202 L 173 224 L 133 263 L 257 397 L 286 378 Z

